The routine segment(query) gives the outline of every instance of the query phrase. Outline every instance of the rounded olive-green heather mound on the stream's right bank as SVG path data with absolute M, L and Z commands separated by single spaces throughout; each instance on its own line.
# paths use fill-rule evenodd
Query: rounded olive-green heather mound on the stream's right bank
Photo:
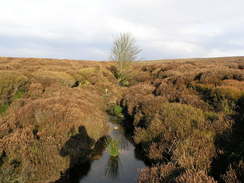
M 150 105 L 145 107 L 150 108 Z M 166 141 L 180 140 L 190 135 L 193 129 L 205 126 L 204 113 L 200 109 L 177 103 L 162 103 L 158 107 L 153 113 L 145 113 L 151 120 L 145 129 L 136 130 L 136 143 L 150 141 L 161 133 Z

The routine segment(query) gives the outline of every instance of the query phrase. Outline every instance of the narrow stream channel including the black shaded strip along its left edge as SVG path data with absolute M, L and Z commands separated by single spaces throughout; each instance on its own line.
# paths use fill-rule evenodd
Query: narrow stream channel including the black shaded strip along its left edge
M 71 170 L 69 182 L 74 183 L 134 183 L 138 171 L 146 167 L 143 158 L 126 136 L 118 122 L 109 122 L 108 137 L 119 142 L 119 156 L 110 156 L 106 150 L 106 138 L 100 140 L 90 161 Z M 70 180 L 72 179 L 72 180 Z M 57 181 L 56 183 L 63 182 Z M 64 181 L 66 182 L 66 181 Z

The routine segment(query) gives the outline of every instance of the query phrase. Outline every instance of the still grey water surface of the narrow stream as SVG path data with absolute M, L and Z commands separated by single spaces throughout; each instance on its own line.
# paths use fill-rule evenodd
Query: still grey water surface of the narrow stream
M 119 156 L 109 156 L 104 148 L 102 154 L 93 158 L 89 170 L 80 178 L 80 183 L 136 182 L 138 170 L 145 167 L 144 162 L 136 158 L 135 147 L 126 138 L 120 125 L 110 123 L 109 136 L 120 142 Z

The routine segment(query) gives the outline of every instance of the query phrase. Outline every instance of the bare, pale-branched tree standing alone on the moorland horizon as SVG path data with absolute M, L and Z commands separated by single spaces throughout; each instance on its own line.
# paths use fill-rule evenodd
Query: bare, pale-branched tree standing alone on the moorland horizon
M 128 71 L 128 67 L 132 61 L 137 60 L 138 54 L 141 52 L 136 46 L 136 41 L 129 33 L 121 33 L 120 36 L 115 39 L 112 47 L 112 60 L 117 62 L 118 74 L 125 75 Z

